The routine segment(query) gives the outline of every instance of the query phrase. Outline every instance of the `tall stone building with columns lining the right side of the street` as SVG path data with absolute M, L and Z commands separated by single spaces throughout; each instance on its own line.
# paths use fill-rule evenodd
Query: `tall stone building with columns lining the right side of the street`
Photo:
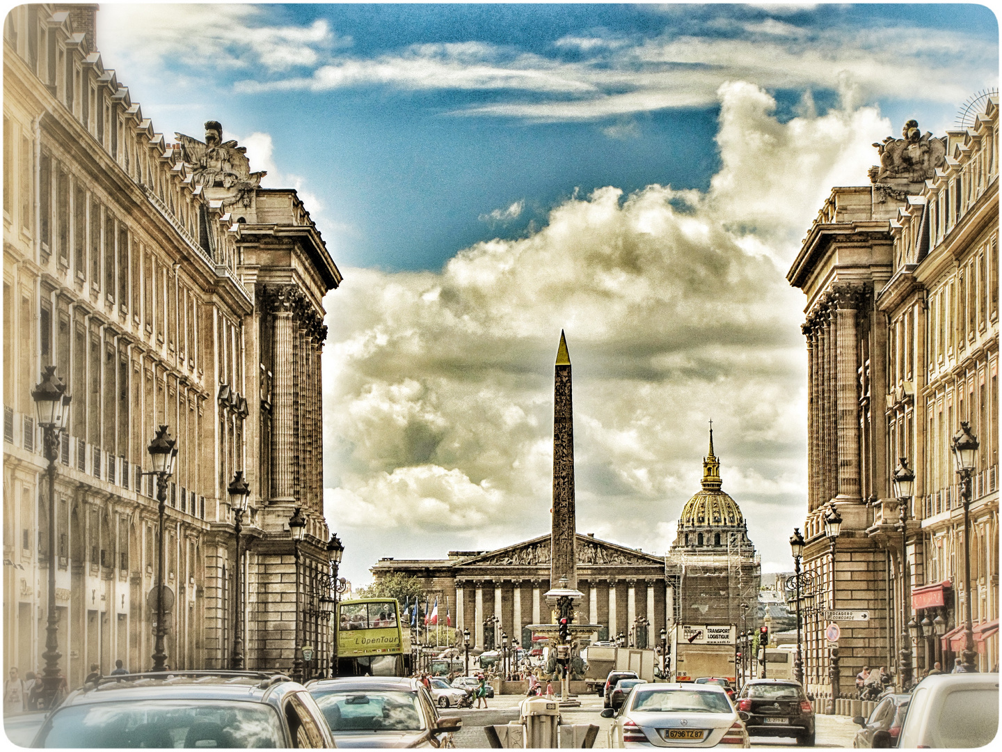
M 788 274 L 807 295 L 804 569 L 820 592 L 817 609 L 869 616 L 840 624 L 837 653 L 824 615 L 806 619 L 805 677 L 819 696 L 835 689 L 833 671 L 848 694 L 863 665 L 896 668 L 903 647 L 920 669 L 952 656 L 950 636 L 916 648 L 903 644 L 902 630 L 927 615 L 918 603 L 936 604 L 950 630 L 962 619 L 953 598 L 963 537 L 949 439 L 968 418 L 982 439 L 971 549 L 979 561 L 972 576 L 981 577 L 982 666 L 997 652 L 996 123 L 994 100 L 972 128 L 945 137 L 909 121 L 902 138 L 879 144 L 870 185 L 833 190 Z M 917 475 L 909 583 L 892 484 L 899 457 Z M 824 524 L 832 508 L 844 520 L 834 541 Z

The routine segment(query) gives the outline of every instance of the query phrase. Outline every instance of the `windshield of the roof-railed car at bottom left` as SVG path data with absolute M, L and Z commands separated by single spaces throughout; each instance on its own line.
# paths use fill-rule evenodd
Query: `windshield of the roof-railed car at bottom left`
M 41 747 L 285 747 L 269 705 L 218 700 L 129 700 L 57 711 Z

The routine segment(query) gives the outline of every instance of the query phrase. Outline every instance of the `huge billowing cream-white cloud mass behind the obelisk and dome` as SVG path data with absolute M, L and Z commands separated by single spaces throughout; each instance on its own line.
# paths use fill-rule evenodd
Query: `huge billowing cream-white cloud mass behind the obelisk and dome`
M 698 488 L 709 418 L 724 488 L 758 511 L 753 538 L 802 516 L 803 299 L 784 275 L 832 180 L 865 179 L 872 147 L 859 144 L 890 124 L 871 108 L 780 123 L 739 81 L 717 95 L 721 168 L 706 193 L 604 187 L 441 273 L 345 271 L 324 353 L 339 530 L 396 545 L 434 529 L 483 547 L 545 532 L 561 330 L 579 529 L 664 550 L 666 520 Z

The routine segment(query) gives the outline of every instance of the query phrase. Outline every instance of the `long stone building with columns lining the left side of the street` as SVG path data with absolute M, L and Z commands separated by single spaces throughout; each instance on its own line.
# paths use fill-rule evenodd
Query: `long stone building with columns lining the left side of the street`
M 242 470 L 245 665 L 288 670 L 295 507 L 308 519 L 301 610 L 329 572 L 321 300 L 341 276 L 296 192 L 262 189 L 219 123 L 205 124 L 204 141 L 156 132 L 103 67 L 96 23 L 96 6 L 40 4 L 4 24 L 4 662 L 41 668 L 55 566 L 70 685 L 91 663 L 149 667 L 159 530 L 142 472 L 166 424 L 178 448 L 164 530 L 167 663 L 229 665 L 226 487 Z M 72 396 L 55 519 L 31 398 L 45 365 Z M 300 642 L 326 645 L 313 620 Z

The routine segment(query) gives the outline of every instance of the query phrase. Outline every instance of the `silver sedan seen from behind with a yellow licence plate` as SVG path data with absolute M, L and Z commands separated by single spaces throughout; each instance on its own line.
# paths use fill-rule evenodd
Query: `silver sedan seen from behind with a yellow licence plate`
M 609 747 L 747 747 L 740 714 L 715 684 L 641 684 L 632 689 L 609 729 Z

